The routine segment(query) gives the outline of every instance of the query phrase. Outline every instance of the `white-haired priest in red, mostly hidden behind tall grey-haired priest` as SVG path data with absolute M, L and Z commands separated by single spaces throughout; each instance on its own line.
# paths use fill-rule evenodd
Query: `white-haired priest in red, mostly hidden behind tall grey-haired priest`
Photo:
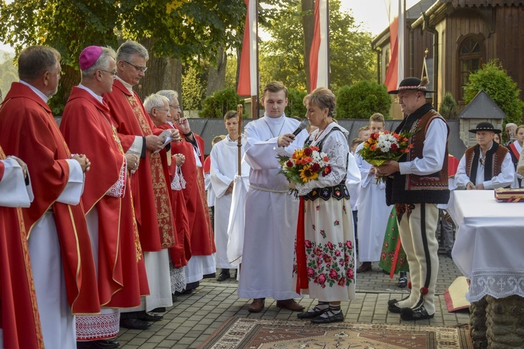
M 144 101 L 144 108 L 150 115 L 151 120 L 159 129 L 175 129 L 168 124 L 171 117 L 169 100 L 161 94 L 152 94 Z M 177 233 L 177 244 L 169 248 L 172 266 L 170 267 L 171 292 L 175 301 L 175 292 L 182 292 L 186 287 L 185 274 L 183 267 L 189 262 L 191 257 L 189 219 L 187 217 L 186 202 L 182 190 L 186 185 L 186 180 L 182 175 L 182 164 L 185 156 L 182 154 L 172 154 L 173 148 L 180 148 L 179 142 L 171 143 L 171 150 L 166 153 L 166 162 L 169 163 L 169 176 L 171 187 L 171 207 L 175 218 L 175 231 Z M 186 142 L 187 143 L 187 142 Z M 184 145 L 180 145 L 184 146 Z M 189 148 L 192 148 L 187 143 Z

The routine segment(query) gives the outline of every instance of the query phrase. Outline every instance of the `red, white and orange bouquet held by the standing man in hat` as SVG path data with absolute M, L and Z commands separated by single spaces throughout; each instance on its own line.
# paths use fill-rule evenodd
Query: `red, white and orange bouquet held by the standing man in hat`
M 358 150 L 358 154 L 374 166 L 380 166 L 388 160 L 398 161 L 413 148 L 413 145 L 409 144 L 410 137 L 409 132 L 400 134 L 390 131 L 377 132 L 370 135 L 370 138 L 364 142 L 363 148 Z M 384 181 L 385 178 L 380 177 L 378 180 Z

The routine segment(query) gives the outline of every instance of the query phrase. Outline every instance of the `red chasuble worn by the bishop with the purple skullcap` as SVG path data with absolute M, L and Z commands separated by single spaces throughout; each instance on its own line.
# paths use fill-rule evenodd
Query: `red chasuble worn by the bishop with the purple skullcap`
M 124 152 L 119 148 L 110 120 L 105 103 L 86 90 L 73 87 L 60 130 L 71 152 L 91 159 L 82 204 L 87 213 L 96 206 L 99 216 L 99 255 L 95 257 L 98 257 L 100 304 L 131 308 L 140 305 L 140 296 L 149 294 L 149 286 L 131 191 L 126 191 Z M 124 197 L 107 195 L 110 189 L 112 195 L 122 193 Z

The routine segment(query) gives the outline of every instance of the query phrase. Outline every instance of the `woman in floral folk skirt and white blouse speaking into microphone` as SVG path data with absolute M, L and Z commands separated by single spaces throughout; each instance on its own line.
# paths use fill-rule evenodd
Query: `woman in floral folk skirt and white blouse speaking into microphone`
M 344 320 L 340 301 L 355 297 L 354 231 L 345 180 L 347 176 L 360 178 L 360 173 L 355 166 L 347 172 L 348 162 L 355 160 L 349 153 L 349 132 L 333 120 L 333 92 L 319 87 L 304 98 L 304 104 L 308 120 L 319 128 L 305 145 L 315 145 L 328 155 L 331 172 L 296 185 L 301 199 L 293 278 L 297 292 L 319 299 L 319 304 L 299 313 L 298 318 L 340 322 Z

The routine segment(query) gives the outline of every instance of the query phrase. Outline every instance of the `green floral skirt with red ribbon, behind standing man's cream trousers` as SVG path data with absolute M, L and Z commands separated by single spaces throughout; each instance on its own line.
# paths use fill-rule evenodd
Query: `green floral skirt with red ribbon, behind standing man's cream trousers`
M 382 245 L 379 262 L 379 266 L 388 273 L 391 272 L 393 265 L 395 266 L 395 274 L 399 271 L 409 271 L 406 252 L 404 252 L 402 244 L 400 244 L 400 248 L 397 252 L 397 244 L 401 242 L 399 236 L 397 213 L 395 211 L 395 206 L 393 206 L 393 210 L 391 210 L 391 213 L 389 214 L 388 226 L 386 227 L 386 234 L 384 235 L 384 244 Z

